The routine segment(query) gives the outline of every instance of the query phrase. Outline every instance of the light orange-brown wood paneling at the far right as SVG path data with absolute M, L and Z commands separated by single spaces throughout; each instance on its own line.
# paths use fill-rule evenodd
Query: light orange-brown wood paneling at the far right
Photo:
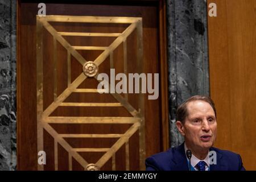
M 213 0 L 208 16 L 210 96 L 217 109 L 215 146 L 256 169 L 256 1 Z

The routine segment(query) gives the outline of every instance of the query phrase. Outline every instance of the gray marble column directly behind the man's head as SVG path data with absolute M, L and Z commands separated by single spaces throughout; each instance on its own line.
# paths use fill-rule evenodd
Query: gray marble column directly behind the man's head
M 187 98 L 209 95 L 206 0 L 167 0 L 171 147 L 183 142 L 176 109 Z

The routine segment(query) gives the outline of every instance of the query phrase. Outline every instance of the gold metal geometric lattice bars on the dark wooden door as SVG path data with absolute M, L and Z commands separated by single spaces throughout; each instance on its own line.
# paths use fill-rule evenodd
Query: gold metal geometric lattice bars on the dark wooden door
M 55 28 L 48 22 L 80 22 L 80 23 L 127 23 L 130 24 L 122 33 L 96 33 L 96 32 L 57 32 Z M 59 42 L 65 49 L 67 49 L 67 65 L 68 65 L 68 86 L 59 96 L 56 94 L 56 68 L 53 69 L 53 85 L 54 85 L 54 101 L 46 109 L 43 109 L 43 38 L 42 28 L 45 28 L 53 36 L 53 53 L 56 54 L 56 42 Z M 109 17 L 109 16 L 59 16 L 47 15 L 37 16 L 36 18 L 36 59 L 37 59 L 37 125 L 38 125 L 38 151 L 43 151 L 43 130 L 46 130 L 54 139 L 54 153 L 55 153 L 55 169 L 58 168 L 58 152 L 57 146 L 60 144 L 69 156 L 69 170 L 72 170 L 72 158 L 76 159 L 81 166 L 86 169 L 99 169 L 110 158 L 112 158 L 112 168 L 115 169 L 115 152 L 123 145 L 126 146 L 126 169 L 129 170 L 129 138 L 139 131 L 139 158 L 140 168 L 144 169 L 144 100 L 142 95 L 139 96 L 139 110 L 134 109 L 125 97 L 117 93 L 112 93 L 112 96 L 117 100 L 116 103 L 75 103 L 63 102 L 71 93 L 92 93 L 97 92 L 97 89 L 79 89 L 78 86 L 87 78 L 81 74 L 71 82 L 71 55 L 79 61 L 81 65 L 87 61 L 77 52 L 77 49 L 102 49 L 104 50 L 94 61 L 97 67 L 110 56 L 110 67 L 113 68 L 113 51 L 121 43 L 124 49 L 124 67 L 127 68 L 127 52 L 126 52 L 126 38 L 134 30 L 137 31 L 137 63 L 138 68 L 142 68 L 142 18 L 134 17 Z M 109 47 L 88 47 L 88 46 L 72 46 L 63 38 L 63 36 L 112 36 L 116 37 Z M 56 56 L 53 56 L 53 61 L 56 63 Z M 53 65 L 56 67 L 56 64 Z M 98 75 L 98 73 L 97 73 Z M 97 78 L 97 75 L 94 78 Z M 121 106 L 125 107 L 133 117 L 50 117 L 49 115 L 59 106 Z M 109 124 L 132 124 L 131 127 L 124 134 L 59 134 L 50 123 L 109 123 Z M 110 148 L 72 148 L 64 138 L 118 138 L 118 140 Z M 95 164 L 88 164 L 84 158 L 79 154 L 81 151 L 104 151 L 105 154 Z M 43 170 L 43 165 L 38 164 L 38 169 Z

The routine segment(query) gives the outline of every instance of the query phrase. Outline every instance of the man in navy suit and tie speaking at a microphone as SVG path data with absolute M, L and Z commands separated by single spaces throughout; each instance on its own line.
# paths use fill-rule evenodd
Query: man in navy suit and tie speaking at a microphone
M 216 109 L 208 96 L 193 96 L 177 109 L 177 129 L 185 142 L 146 159 L 148 171 L 241 171 L 241 156 L 214 148 Z M 186 151 L 192 152 L 191 159 Z

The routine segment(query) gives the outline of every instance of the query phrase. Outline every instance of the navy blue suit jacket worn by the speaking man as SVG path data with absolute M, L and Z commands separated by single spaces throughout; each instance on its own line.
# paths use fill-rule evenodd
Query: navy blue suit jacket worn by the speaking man
M 230 151 L 211 147 L 216 151 L 217 164 L 210 165 L 210 171 L 244 171 L 241 156 Z M 146 159 L 147 171 L 188 171 L 184 143 Z

